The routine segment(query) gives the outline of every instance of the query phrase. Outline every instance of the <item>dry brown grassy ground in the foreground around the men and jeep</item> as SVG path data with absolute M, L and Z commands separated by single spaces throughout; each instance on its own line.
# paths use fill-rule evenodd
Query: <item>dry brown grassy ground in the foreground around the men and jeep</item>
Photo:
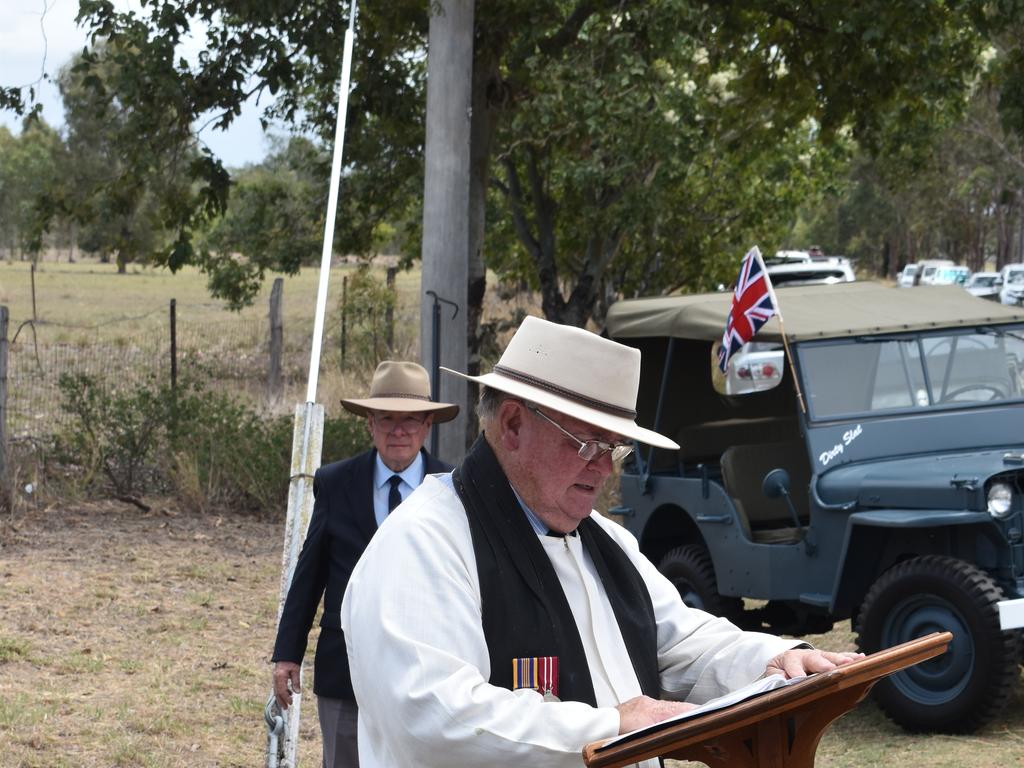
M 3 765 L 263 765 L 283 522 L 147 501 L 0 518 Z M 809 639 L 853 642 L 848 624 Z M 311 695 L 302 722 L 300 765 L 318 765 Z M 818 766 L 882 763 L 1024 766 L 1024 695 L 957 737 L 906 734 L 866 702 L 818 751 Z

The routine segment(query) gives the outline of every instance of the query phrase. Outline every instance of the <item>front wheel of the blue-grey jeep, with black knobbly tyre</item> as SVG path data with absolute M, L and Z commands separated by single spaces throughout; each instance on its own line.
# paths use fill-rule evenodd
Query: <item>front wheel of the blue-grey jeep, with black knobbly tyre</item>
M 988 573 L 953 557 L 915 557 L 879 578 L 860 609 L 861 651 L 953 634 L 942 655 L 874 685 L 874 699 L 894 722 L 911 731 L 970 733 L 999 714 L 1020 674 L 1018 633 L 999 629 L 1000 599 Z

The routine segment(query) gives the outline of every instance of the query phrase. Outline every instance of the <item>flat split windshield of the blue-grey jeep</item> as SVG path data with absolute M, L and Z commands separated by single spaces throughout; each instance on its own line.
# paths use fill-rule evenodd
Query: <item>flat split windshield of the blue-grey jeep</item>
M 1024 397 L 1024 325 L 829 339 L 799 355 L 815 421 Z

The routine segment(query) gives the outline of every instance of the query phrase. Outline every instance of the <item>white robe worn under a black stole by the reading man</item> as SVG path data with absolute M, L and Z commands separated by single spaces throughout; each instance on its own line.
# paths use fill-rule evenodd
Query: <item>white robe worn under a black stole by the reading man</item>
M 664 698 L 701 703 L 800 644 L 687 608 L 629 531 L 592 517 L 647 584 Z M 618 733 L 614 707 L 640 685 L 611 606 L 580 537 L 542 543 L 580 628 L 598 706 L 487 682 L 469 521 L 451 477 L 428 476 L 381 525 L 342 602 L 361 768 L 579 768 L 584 744 Z

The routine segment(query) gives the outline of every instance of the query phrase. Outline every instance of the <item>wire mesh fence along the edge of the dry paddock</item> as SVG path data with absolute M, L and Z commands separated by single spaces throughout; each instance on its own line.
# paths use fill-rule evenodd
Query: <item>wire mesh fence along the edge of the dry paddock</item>
M 347 321 L 342 319 L 344 312 L 333 313 L 325 327 L 322 374 L 372 371 L 386 356 L 415 358 L 417 312 L 418 305 L 410 301 L 398 302 L 389 312 L 377 307 L 349 310 Z M 72 415 L 61 407 L 59 383 L 65 375 L 88 376 L 100 392 L 114 394 L 171 383 L 172 359 L 178 381 L 199 380 L 265 412 L 282 412 L 289 401 L 275 398 L 268 382 L 270 331 L 267 314 L 247 317 L 209 305 L 182 304 L 176 304 L 173 313 L 162 306 L 100 325 L 40 322 L 11 327 L 7 438 L 46 438 L 72 426 Z M 311 332 L 309 324 L 285 324 L 278 352 L 284 391 L 304 392 Z

